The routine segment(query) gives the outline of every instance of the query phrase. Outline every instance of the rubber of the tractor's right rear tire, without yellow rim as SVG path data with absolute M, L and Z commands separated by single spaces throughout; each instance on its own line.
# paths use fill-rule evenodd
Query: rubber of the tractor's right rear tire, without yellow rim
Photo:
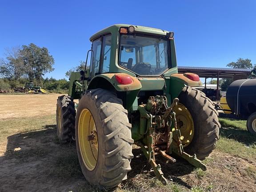
M 192 142 L 184 150 L 204 160 L 215 149 L 216 141 L 219 139 L 218 112 L 212 101 L 195 88 L 183 88 L 178 98 L 191 113 L 195 128 Z

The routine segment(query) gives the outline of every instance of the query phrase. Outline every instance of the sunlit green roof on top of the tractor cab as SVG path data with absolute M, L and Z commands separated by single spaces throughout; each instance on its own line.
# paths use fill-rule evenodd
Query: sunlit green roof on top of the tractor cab
M 112 33 L 112 32 L 118 32 L 121 27 L 126 27 L 128 28 L 131 26 L 131 24 L 114 24 L 111 25 L 107 28 L 104 28 L 98 32 L 96 32 L 94 35 L 91 36 L 90 41 L 93 41 L 100 37 L 101 35 L 104 35 L 106 33 Z M 136 32 L 143 32 L 143 33 L 150 33 L 150 34 L 156 34 L 156 35 L 163 35 L 165 36 L 168 31 L 162 30 L 162 29 L 157 29 L 157 28 L 150 28 L 150 27 L 143 27 L 139 25 L 132 25 L 135 28 Z

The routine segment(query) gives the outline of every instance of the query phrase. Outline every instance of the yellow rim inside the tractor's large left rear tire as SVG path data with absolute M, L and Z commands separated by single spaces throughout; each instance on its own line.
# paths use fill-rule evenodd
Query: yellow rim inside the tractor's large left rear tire
M 98 134 L 92 113 L 83 109 L 78 122 L 78 143 L 85 167 L 92 171 L 98 160 Z

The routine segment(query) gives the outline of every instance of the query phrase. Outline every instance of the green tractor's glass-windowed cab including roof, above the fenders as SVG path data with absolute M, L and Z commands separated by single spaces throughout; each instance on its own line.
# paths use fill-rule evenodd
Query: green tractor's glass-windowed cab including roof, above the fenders
M 160 77 L 170 68 L 177 72 L 173 35 L 160 29 L 125 24 L 96 33 L 90 39 L 90 79 L 110 72 L 136 77 Z

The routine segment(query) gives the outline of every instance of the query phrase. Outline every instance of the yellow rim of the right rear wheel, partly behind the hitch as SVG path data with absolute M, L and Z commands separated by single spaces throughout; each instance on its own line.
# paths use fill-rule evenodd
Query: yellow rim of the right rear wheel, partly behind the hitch
M 186 147 L 191 143 L 195 133 L 193 118 L 181 103 L 178 103 L 173 110 L 176 112 L 177 128 L 180 129 L 180 134 L 183 136 L 181 142 L 183 147 Z

